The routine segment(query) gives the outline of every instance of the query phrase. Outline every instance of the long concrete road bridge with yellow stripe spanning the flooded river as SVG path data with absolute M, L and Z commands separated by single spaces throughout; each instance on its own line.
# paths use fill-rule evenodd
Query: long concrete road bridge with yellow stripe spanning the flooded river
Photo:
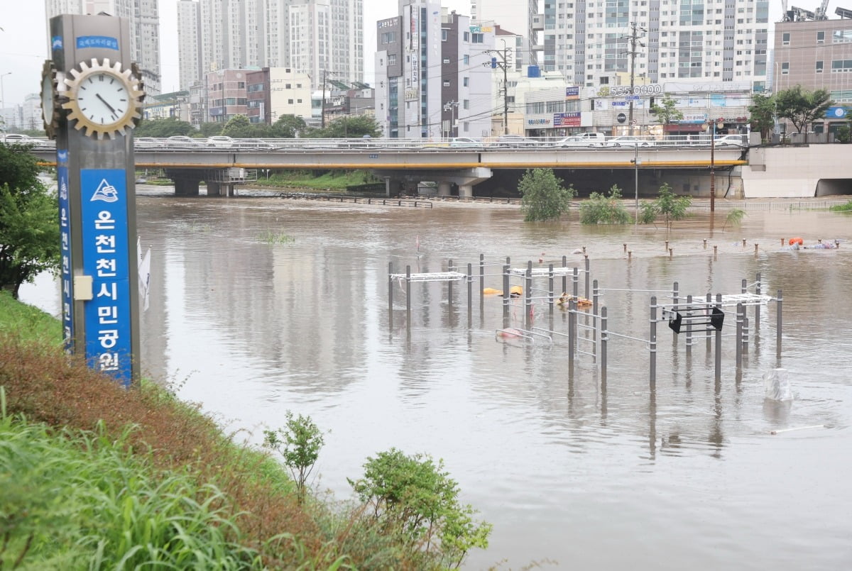
M 197 195 L 204 180 L 209 196 L 232 196 L 235 186 L 252 180 L 252 172 L 266 168 L 371 170 L 385 180 L 389 196 L 402 186 L 416 188 L 419 181 L 437 183 L 439 195 L 449 195 L 452 185 L 458 186 L 461 197 L 474 196 L 477 185 L 487 192 L 512 191 L 527 168 L 554 168 L 561 178 L 577 180 L 581 192 L 583 181 L 589 181 L 589 188 L 596 186 L 593 190 L 606 191 L 618 184 L 625 194 L 636 186 L 638 193 L 653 195 L 665 182 L 677 193 L 708 197 L 712 172 L 717 178 L 717 197 L 852 194 L 852 147 L 838 144 L 711 149 L 655 141 L 640 147 L 491 143 L 469 148 L 429 145 L 422 140 L 287 141 L 289 145 L 280 148 L 239 144 L 181 148 L 165 142 L 144 146 L 137 142 L 135 164 L 137 168 L 164 169 L 180 195 Z M 55 161 L 55 151 L 49 148 L 33 151 L 46 163 Z M 724 180 L 718 180 L 720 177 Z M 506 188 L 500 187 L 501 180 Z

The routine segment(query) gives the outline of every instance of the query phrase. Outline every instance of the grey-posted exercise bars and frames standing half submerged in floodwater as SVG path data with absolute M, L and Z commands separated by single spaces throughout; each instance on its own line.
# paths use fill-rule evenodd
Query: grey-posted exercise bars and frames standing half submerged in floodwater
M 453 287 L 460 283 L 467 287 L 468 322 L 472 325 L 472 313 L 475 303 L 474 283 L 478 277 L 480 314 L 485 311 L 486 294 L 502 297 L 503 327 L 495 331 L 498 340 L 521 340 L 523 342 L 549 342 L 554 337 L 567 339 L 569 374 L 573 375 L 574 361 L 580 357 L 589 357 L 599 369 L 602 382 L 607 380 L 607 348 L 614 339 L 634 340 L 644 343 L 648 348 L 648 382 L 653 389 L 657 380 L 657 345 L 658 328 L 660 324 L 668 325 L 678 343 L 679 336 L 686 340 L 688 356 L 694 345 L 700 339 L 705 340 L 707 354 L 714 355 L 714 370 L 716 380 L 722 375 L 722 338 L 733 337 L 736 349 L 736 369 L 740 371 L 743 356 L 747 353 L 751 335 L 760 326 L 761 307 L 774 303 L 776 307 L 775 351 L 780 360 L 782 339 L 782 292 L 779 289 L 774 297 L 763 294 L 763 283 L 760 272 L 753 283 L 742 280 L 740 292 L 734 294 L 705 294 L 694 296 L 682 295 L 677 282 L 672 284 L 670 291 L 601 288 L 597 279 L 591 279 L 590 260 L 584 255 L 584 268 L 569 267 L 567 256 L 562 256 L 561 266 L 550 264 L 548 267 L 533 267 L 528 261 L 526 267 L 512 267 L 509 258 L 504 263 L 486 263 L 485 255 L 480 254 L 479 272 L 474 273 L 472 264 L 467 264 L 467 271 L 448 260 L 447 271 L 435 273 L 412 273 L 411 266 L 406 266 L 405 273 L 394 272 L 393 262 L 388 266 L 388 310 L 389 323 L 393 324 L 394 289 L 401 288 L 406 300 L 406 324 L 412 323 L 412 283 L 439 282 L 446 283 L 447 300 L 449 305 L 455 303 Z M 498 269 L 499 271 L 493 271 Z M 579 296 L 580 274 L 584 282 L 584 298 Z M 486 288 L 486 277 L 502 277 L 502 290 Z M 568 294 L 568 280 L 570 291 Z M 561 283 L 559 283 L 561 282 Z M 561 288 L 557 288 L 561 285 Z M 640 337 L 636 332 L 616 332 L 609 328 L 607 306 L 602 305 L 602 295 L 606 292 L 631 292 L 649 294 L 648 300 L 648 337 Z M 660 294 L 660 297 L 658 297 Z M 668 298 L 665 302 L 659 299 Z M 510 310 L 523 307 L 523 326 L 510 327 Z M 567 311 L 567 332 L 539 328 L 533 325 L 534 304 L 545 304 L 546 311 L 553 315 L 556 307 Z M 567 305 L 567 310 L 565 307 Z M 585 305 L 581 306 L 581 305 Z M 747 308 L 753 308 L 753 323 L 748 317 Z M 582 319 L 580 319 L 582 317 Z M 727 318 L 727 321 L 726 321 Z M 552 320 L 551 320 L 552 323 Z M 551 325 L 552 327 L 552 325 Z M 724 333 L 724 329 L 728 333 Z M 715 340 L 715 342 L 714 342 Z

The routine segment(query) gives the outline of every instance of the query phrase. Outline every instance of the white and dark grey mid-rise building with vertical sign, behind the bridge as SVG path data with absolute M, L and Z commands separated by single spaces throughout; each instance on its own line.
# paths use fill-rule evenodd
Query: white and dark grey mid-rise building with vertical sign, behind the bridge
M 391 138 L 491 134 L 493 31 L 435 0 L 377 22 L 376 119 Z

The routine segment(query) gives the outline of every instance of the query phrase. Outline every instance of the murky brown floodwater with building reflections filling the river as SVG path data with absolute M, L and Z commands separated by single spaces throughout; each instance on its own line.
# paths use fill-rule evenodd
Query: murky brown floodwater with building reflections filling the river
M 146 370 L 183 383 L 181 397 L 255 441 L 286 410 L 309 414 L 331 431 L 318 485 L 340 495 L 367 456 L 391 446 L 443 458 L 464 500 L 495 523 L 492 548 L 473 553 L 469 568 L 505 558 L 512 568 L 549 559 L 575 568 L 796 569 L 804 554 L 808 568 L 840 568 L 852 556 L 840 477 L 852 461 L 837 453 L 852 440 L 844 217 L 750 212 L 742 227 L 721 231 L 716 220 L 711 232 L 699 214 L 666 237 L 653 227 L 584 228 L 576 213 L 526 225 L 515 207 L 175 197 L 140 197 L 138 207 L 142 243 L 153 248 Z M 265 231 L 293 241 L 264 243 Z M 778 251 L 788 235 L 846 247 Z M 507 256 L 513 267 L 558 267 L 564 255 L 582 270 L 574 252 L 583 247 L 609 329 L 626 336 L 609 341 L 605 384 L 589 355 L 569 370 L 559 335 L 567 314 L 543 299 L 532 325 L 553 332 L 552 343 L 500 340 L 498 328 L 524 327 L 523 300 L 512 300 L 504 323 L 502 298 L 480 300 L 478 277 L 470 305 L 466 283 L 452 297 L 446 283 L 413 283 L 408 316 L 404 284 L 388 282 L 389 263 L 439 272 L 452 259 L 478 276 L 485 254 L 485 285 L 499 289 Z M 687 349 L 683 334 L 660 323 L 652 390 L 651 295 L 670 300 L 675 282 L 682 299 L 738 294 L 757 272 L 763 293 L 783 290 L 780 360 L 774 305 L 751 323 L 739 373 L 726 328 L 718 382 L 712 344 L 696 337 Z M 541 298 L 549 285 L 536 287 Z M 49 310 L 58 300 L 46 281 L 22 295 Z M 580 335 L 590 352 L 590 329 Z M 777 366 L 788 371 L 792 403 L 764 402 L 763 373 Z M 814 425 L 828 428 L 769 434 Z

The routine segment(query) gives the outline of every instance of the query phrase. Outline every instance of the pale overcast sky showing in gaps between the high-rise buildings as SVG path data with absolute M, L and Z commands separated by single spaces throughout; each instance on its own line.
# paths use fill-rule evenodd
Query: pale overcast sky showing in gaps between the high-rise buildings
M 522 0 L 514 0 L 522 1 Z M 176 90 L 177 85 L 177 4 L 178 0 L 158 0 L 160 18 L 160 54 L 163 74 L 163 91 Z M 849 0 L 852 4 L 852 0 Z M 365 81 L 375 83 L 372 75 L 373 50 L 376 45 L 376 20 L 389 18 L 397 12 L 396 0 L 365 0 L 364 43 L 366 46 Z M 791 2 L 792 4 L 792 2 Z M 814 10 L 820 0 L 795 0 L 799 8 Z M 469 0 L 443 0 L 443 6 L 459 14 L 469 14 Z M 840 4 L 838 4 L 840 5 Z M 830 18 L 836 18 L 832 3 L 828 8 Z M 844 6 L 845 7 L 845 6 Z M 852 5 L 849 6 L 852 9 Z M 770 3 L 770 21 L 780 20 L 780 2 Z M 0 0 L 0 82 L 3 84 L 4 106 L 20 104 L 26 94 L 38 93 L 41 85 L 43 61 L 48 57 L 47 21 L 43 0 Z M 510 29 L 510 28 L 509 28 Z M 769 45 L 772 45 L 770 40 Z

